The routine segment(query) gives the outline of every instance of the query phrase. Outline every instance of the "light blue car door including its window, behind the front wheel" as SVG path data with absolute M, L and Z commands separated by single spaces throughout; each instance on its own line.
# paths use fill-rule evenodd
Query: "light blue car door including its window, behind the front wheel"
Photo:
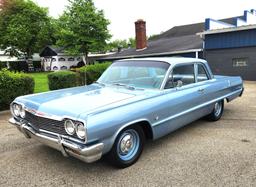
M 203 113 L 198 107 L 202 93 L 196 83 L 196 63 L 173 67 L 165 85 L 165 119 L 156 129 L 157 134 L 167 134 L 196 119 Z

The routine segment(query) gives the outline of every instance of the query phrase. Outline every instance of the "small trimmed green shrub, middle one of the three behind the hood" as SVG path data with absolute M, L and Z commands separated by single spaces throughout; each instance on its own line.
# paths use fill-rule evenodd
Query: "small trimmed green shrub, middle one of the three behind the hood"
M 77 74 L 71 71 L 57 71 L 48 74 L 50 90 L 77 86 Z

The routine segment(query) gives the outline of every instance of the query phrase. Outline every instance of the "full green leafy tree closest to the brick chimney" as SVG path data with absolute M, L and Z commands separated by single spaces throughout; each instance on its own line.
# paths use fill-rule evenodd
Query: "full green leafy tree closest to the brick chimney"
M 59 18 L 57 45 L 72 55 L 83 54 L 88 62 L 89 52 L 101 52 L 111 37 L 109 21 L 92 0 L 69 0 L 69 6 Z

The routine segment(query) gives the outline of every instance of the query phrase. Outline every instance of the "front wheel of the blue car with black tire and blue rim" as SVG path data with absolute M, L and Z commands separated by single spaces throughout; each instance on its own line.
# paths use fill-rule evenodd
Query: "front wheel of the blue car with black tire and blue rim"
M 108 153 L 108 160 L 119 168 L 134 164 L 140 157 L 145 134 L 140 126 L 131 126 L 121 131 Z

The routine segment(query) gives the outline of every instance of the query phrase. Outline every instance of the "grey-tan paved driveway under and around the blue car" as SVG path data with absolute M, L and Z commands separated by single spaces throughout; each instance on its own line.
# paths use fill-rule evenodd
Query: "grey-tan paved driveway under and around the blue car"
M 117 170 L 85 164 L 28 140 L 0 115 L 0 186 L 256 186 L 256 83 L 215 123 L 196 121 L 148 142 L 140 160 Z

